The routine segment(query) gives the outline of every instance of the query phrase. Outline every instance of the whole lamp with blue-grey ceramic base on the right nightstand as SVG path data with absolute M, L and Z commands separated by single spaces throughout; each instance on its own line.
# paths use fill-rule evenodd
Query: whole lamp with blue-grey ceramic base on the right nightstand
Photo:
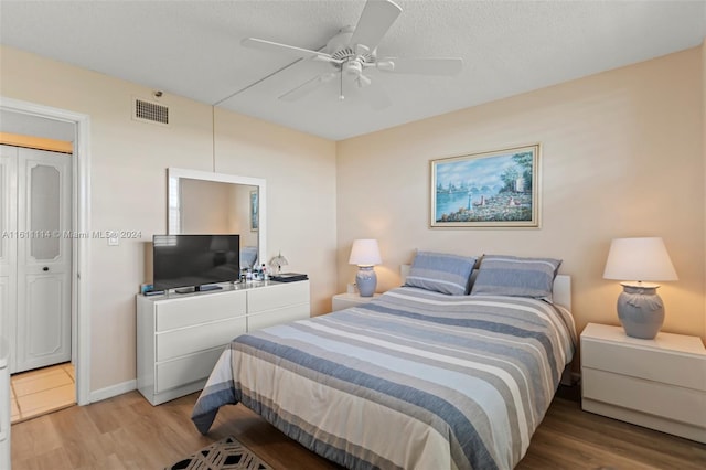
M 656 292 L 660 285 L 643 281 L 678 280 L 662 238 L 614 238 L 603 279 L 623 280 L 618 318 L 625 334 L 645 340 L 656 337 L 664 323 L 664 305 Z

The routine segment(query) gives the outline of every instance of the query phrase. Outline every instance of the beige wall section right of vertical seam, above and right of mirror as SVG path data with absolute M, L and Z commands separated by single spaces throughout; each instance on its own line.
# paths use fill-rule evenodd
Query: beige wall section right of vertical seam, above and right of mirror
M 227 129 L 227 130 L 226 130 Z M 216 109 L 216 171 L 267 180 L 268 260 L 311 279 L 312 314 L 331 311 L 335 279 L 335 142 Z

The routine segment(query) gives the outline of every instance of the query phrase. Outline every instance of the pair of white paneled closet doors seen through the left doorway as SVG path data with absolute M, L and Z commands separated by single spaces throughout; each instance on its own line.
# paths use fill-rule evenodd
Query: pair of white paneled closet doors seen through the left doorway
M 65 153 L 1 147 L 0 302 L 15 373 L 71 360 L 72 163 Z

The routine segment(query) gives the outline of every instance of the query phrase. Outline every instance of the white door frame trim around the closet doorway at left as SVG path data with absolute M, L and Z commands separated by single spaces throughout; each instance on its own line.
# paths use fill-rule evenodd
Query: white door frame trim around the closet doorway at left
M 72 165 L 72 232 L 89 234 L 89 118 L 87 115 L 33 103 L 0 97 L 0 113 L 42 118 L 74 126 L 74 157 Z M 4 126 L 4 125 L 3 125 Z M 2 130 L 2 129 L 0 129 Z M 26 132 L 24 132 L 26 133 Z M 30 132 L 31 133 L 31 132 Z M 90 317 L 89 317 L 89 239 L 73 237 L 71 268 L 71 357 L 75 366 L 75 392 L 78 405 L 90 403 Z

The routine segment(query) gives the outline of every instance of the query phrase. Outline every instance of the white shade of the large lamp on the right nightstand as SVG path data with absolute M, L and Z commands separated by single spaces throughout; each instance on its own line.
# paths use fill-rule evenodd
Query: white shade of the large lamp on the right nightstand
M 661 237 L 614 238 L 608 252 L 603 278 L 678 280 Z

